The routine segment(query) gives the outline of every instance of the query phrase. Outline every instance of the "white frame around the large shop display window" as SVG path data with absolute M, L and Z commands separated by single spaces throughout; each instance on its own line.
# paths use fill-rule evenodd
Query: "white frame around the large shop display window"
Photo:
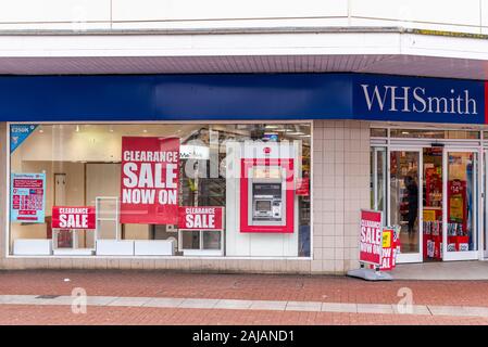
M 15 256 L 10 254 L 10 126 L 13 124 L 24 124 L 24 125 L 30 125 L 30 124 L 36 124 L 36 125 L 59 125 L 59 124 L 63 124 L 63 125 L 164 125 L 164 124 L 173 124 L 173 125 L 188 125 L 188 124 L 224 124 L 224 125 L 228 125 L 228 124 L 256 124 L 256 121 L 259 123 L 263 123 L 263 124 L 309 124 L 310 125 L 310 185 L 311 185 L 311 193 L 310 193 L 310 256 L 308 257 L 233 257 L 233 256 L 117 256 L 117 257 L 113 257 L 113 256 L 97 256 L 97 255 L 92 255 L 92 256 Z M 35 259 L 53 259 L 53 258 L 60 258 L 60 259 L 66 259 L 66 257 L 76 259 L 76 258 L 80 258 L 80 259 L 209 259 L 209 260 L 214 260 L 214 259 L 222 259 L 222 260 L 226 260 L 226 259 L 234 259 L 234 260 L 304 260 L 304 261 L 311 261 L 313 260 L 313 239 L 314 239 L 314 218 L 313 218 L 313 170 L 314 170 L 314 158 L 313 158 L 313 152 L 314 152 L 314 143 L 313 143 L 313 132 L 314 132 L 314 119 L 260 119 L 260 120 L 117 120 L 117 121 L 110 121 L 110 120 L 93 120 L 93 121 L 88 121 L 88 120 L 79 120 L 79 121 L 5 121 L 7 125 L 7 153 L 5 153 L 5 160 L 7 160 L 7 165 L 5 165 L 5 190 L 7 190 L 7 194 L 5 194 L 5 221 L 4 221 L 4 227 L 5 227 L 5 235 L 4 235 L 4 240 L 5 240 L 5 258 L 35 258 Z M 297 230 L 298 232 L 298 230 Z

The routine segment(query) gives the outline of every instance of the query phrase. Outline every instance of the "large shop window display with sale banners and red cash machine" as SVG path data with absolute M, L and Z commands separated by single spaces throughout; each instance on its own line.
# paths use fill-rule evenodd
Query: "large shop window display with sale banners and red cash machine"
M 311 124 L 10 129 L 11 254 L 310 256 Z

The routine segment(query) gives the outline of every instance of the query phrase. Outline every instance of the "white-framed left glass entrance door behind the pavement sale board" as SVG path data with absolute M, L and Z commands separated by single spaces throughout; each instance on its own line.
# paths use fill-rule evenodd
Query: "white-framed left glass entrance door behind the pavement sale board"
M 422 261 L 422 149 L 390 149 L 388 224 L 400 226 L 399 262 Z

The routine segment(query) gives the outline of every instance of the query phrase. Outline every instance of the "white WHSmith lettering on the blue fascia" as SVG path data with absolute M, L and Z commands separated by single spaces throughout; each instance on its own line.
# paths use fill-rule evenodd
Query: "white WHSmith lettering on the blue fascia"
M 368 111 L 379 108 L 381 112 L 478 114 L 476 100 L 470 98 L 467 89 L 461 93 L 455 93 L 454 89 L 451 89 L 449 97 L 434 97 L 427 95 L 426 89 L 422 87 L 370 85 L 361 85 L 361 87 Z

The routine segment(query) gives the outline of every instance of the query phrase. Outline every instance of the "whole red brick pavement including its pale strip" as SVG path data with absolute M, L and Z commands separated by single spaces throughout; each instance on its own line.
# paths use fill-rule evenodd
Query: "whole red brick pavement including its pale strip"
M 86 314 L 72 312 L 74 288 L 87 293 Z M 487 292 L 488 281 L 1 271 L 0 324 L 488 324 Z

